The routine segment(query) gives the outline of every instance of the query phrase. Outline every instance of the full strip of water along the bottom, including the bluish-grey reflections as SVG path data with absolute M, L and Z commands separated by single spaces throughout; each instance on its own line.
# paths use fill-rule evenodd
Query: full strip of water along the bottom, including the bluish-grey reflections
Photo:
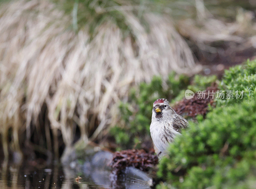
M 148 183 L 136 178 L 122 178 L 113 182 L 109 171 L 82 171 L 75 172 L 70 168 L 60 166 L 34 167 L 27 164 L 1 164 L 0 188 L 13 189 L 103 189 L 103 188 L 149 188 Z M 76 177 L 81 176 L 80 183 Z

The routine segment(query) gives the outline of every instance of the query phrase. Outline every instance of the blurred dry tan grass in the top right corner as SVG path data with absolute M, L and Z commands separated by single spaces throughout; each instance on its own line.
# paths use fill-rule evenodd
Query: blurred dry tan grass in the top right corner
M 211 60 L 216 54 L 232 57 L 235 52 L 256 48 L 255 15 L 242 6 L 254 10 L 256 4 L 246 0 L 195 0 L 195 18 L 180 19 L 176 26 L 182 36 L 196 44 L 205 58 Z

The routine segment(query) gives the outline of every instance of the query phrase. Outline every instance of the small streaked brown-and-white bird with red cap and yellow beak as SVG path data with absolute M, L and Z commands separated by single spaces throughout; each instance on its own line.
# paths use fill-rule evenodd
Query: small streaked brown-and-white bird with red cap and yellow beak
M 157 99 L 154 102 L 150 134 L 159 154 L 164 154 L 175 135 L 180 134 L 180 129 L 187 126 L 188 121 L 177 114 L 165 98 Z

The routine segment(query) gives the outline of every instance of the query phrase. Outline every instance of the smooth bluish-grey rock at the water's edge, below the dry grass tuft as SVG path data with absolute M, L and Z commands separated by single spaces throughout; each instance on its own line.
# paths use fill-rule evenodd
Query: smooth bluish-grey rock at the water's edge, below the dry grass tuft
M 74 151 L 73 151 L 74 152 Z M 81 153 L 81 152 L 80 152 Z M 84 150 L 83 164 L 81 165 L 78 160 L 74 160 L 74 157 L 78 155 L 72 155 L 70 162 L 68 158 L 65 159 L 65 163 L 69 165 L 66 169 L 70 173 L 70 169 L 77 173 L 83 173 L 83 179 L 92 181 L 95 185 L 99 185 L 105 188 L 127 188 L 127 189 L 146 189 L 153 185 L 153 180 L 147 173 L 140 171 L 133 167 L 127 167 L 123 170 L 122 174 L 117 175 L 112 172 L 109 164 L 113 158 L 113 154 L 108 151 L 97 151 L 94 147 L 88 147 Z M 80 154 L 81 157 L 81 154 Z

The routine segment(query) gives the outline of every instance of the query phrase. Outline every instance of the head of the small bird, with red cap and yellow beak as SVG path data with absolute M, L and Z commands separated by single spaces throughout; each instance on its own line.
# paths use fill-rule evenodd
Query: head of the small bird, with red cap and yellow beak
M 152 117 L 156 119 L 163 119 L 170 116 L 173 113 L 173 109 L 169 105 L 169 102 L 165 98 L 157 99 L 153 104 Z

